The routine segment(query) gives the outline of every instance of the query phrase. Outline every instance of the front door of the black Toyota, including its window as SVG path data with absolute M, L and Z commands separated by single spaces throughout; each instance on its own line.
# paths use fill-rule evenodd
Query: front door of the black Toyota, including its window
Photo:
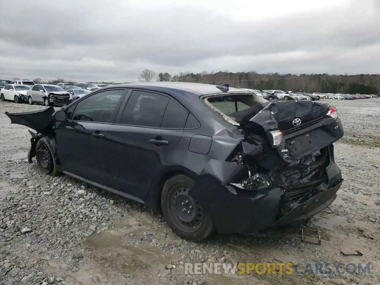
M 104 90 L 67 109 L 68 120 L 55 131 L 58 158 L 65 171 L 106 184 L 106 137 L 126 93 L 125 89 Z

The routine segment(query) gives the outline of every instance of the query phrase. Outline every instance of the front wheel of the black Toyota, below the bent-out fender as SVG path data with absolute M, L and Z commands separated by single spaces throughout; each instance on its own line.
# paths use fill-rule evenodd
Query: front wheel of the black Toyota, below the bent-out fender
M 44 174 L 57 176 L 57 163 L 46 138 L 41 138 L 36 144 L 36 161 Z

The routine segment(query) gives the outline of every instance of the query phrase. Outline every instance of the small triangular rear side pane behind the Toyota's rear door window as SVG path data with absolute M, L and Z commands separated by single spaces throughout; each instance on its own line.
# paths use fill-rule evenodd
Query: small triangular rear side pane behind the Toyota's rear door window
M 161 120 L 160 128 L 183 129 L 187 120 L 188 111 L 180 106 L 173 99 L 169 100 L 164 116 Z

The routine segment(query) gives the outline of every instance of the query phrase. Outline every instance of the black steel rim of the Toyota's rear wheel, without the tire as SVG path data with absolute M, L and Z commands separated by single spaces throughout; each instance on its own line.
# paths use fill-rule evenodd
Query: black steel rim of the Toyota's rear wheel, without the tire
M 185 185 L 176 185 L 170 201 L 170 211 L 176 219 L 176 224 L 182 231 L 193 233 L 197 231 L 203 222 L 204 214 L 202 207 L 188 195 Z

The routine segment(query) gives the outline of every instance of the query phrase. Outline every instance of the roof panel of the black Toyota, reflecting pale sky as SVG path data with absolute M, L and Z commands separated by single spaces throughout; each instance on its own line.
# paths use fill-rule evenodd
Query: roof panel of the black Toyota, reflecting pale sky
M 121 87 L 121 88 L 141 88 L 141 89 L 150 89 L 158 92 L 165 91 L 188 91 L 191 93 L 196 93 L 198 95 L 209 95 L 215 93 L 223 93 L 217 88 L 217 85 L 204 84 L 204 83 L 195 83 L 195 82 L 173 82 L 173 81 L 158 81 L 158 82 L 139 82 L 139 83 L 126 83 L 126 84 L 117 84 L 109 85 L 103 87 L 103 90 Z M 240 88 L 230 87 L 228 90 L 231 92 L 247 93 L 246 90 Z

